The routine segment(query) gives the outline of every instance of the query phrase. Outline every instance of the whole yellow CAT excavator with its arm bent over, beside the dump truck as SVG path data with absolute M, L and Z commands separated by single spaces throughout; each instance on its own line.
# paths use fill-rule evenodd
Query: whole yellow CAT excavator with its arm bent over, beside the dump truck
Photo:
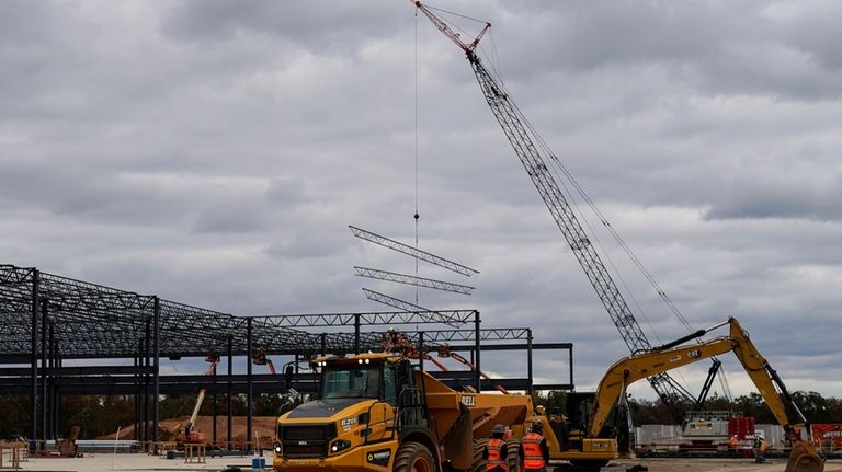
M 715 337 L 702 343 L 689 343 L 707 334 L 712 330 L 729 325 L 728 335 Z M 807 419 L 798 410 L 792 395 L 786 390 L 777 372 L 761 356 L 740 324 L 733 318 L 708 330 L 699 330 L 674 342 L 655 347 L 646 353 L 634 354 L 615 362 L 600 381 L 595 394 L 589 395 L 592 406 L 587 414 L 560 428 L 558 422 L 550 422 L 546 416 L 538 416 L 545 424 L 545 436 L 550 447 L 553 459 L 570 461 L 582 469 L 599 469 L 610 460 L 626 456 L 617 447 L 617 423 L 611 424 L 610 416 L 626 418 L 630 428 L 630 417 L 626 405 L 626 389 L 632 383 L 713 356 L 732 352 L 751 378 L 766 405 L 784 428 L 792 445 L 786 472 L 821 472 L 824 462 L 816 452 L 812 441 L 801 439 L 800 433 L 809 434 Z M 570 399 L 568 399 L 570 400 Z M 573 407 L 587 404 L 578 399 Z M 798 424 L 793 423 L 787 407 L 797 415 Z M 568 412 L 571 408 L 568 407 Z M 531 418 L 532 419 L 532 418 Z

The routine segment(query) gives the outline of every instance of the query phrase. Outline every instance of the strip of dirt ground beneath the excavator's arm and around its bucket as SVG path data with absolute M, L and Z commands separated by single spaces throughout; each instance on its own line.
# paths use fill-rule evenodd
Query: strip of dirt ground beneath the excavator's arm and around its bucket
M 786 459 L 769 459 L 754 463 L 754 459 L 636 459 L 623 463 L 639 463 L 649 472 L 783 472 Z M 829 460 L 824 472 L 842 472 L 842 460 Z

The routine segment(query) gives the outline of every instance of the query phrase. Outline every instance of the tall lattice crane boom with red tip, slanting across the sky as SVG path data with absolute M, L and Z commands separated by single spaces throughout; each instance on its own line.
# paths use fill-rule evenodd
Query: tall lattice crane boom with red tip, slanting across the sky
M 490 27 L 490 24 L 486 23 L 485 28 L 476 39 L 465 43 L 457 34 L 453 33 L 453 30 L 442 19 L 430 11 L 424 4 L 419 1 L 413 3 L 442 33 L 465 51 L 474 69 L 474 74 L 477 77 L 479 87 L 482 89 L 486 102 L 491 107 L 491 112 L 493 112 L 505 137 L 512 145 L 517 158 L 520 158 L 530 179 L 532 179 L 532 183 L 538 191 L 553 219 L 565 235 L 579 265 L 584 269 L 588 280 L 596 291 L 605 310 L 607 310 L 611 320 L 614 322 L 617 331 L 619 331 L 619 335 L 623 337 L 626 346 L 628 346 L 628 349 L 632 353 L 651 349 L 651 345 L 640 329 L 637 319 L 632 313 L 628 303 L 623 298 L 553 173 L 547 168 L 544 157 L 532 138 L 534 131 L 531 133 L 531 129 L 525 125 L 526 120 L 523 118 L 520 110 L 509 99 L 504 89 L 489 73 L 479 56 L 475 53 L 479 38 Z M 555 159 L 555 156 L 551 157 Z M 673 408 L 675 416 L 680 416 L 675 411 L 676 399 L 693 402 L 692 395 L 667 373 L 658 373 L 649 377 L 648 380 L 658 396 Z

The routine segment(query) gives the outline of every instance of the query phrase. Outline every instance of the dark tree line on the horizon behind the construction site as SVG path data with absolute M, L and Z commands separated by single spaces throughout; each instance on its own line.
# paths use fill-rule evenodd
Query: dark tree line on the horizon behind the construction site
M 817 392 L 797 391 L 793 398 L 810 423 L 842 423 L 842 399 L 822 396 Z M 535 405 L 544 405 L 548 412 L 560 414 L 565 411 L 567 393 L 561 391 L 536 392 L 533 394 Z M 190 416 L 195 406 L 196 395 L 170 395 L 160 402 L 160 418 Z M 276 416 L 287 402 L 280 394 L 254 395 L 254 416 Z M 657 400 L 629 398 L 629 407 L 635 425 L 672 424 L 673 418 L 669 408 Z M 217 396 L 216 412 L 226 416 L 227 399 Z M 775 424 L 775 417 L 766 403 L 758 393 L 728 400 L 714 395 L 705 403 L 707 410 L 737 411 L 746 416 L 754 417 L 755 423 Z M 149 405 L 151 415 L 152 405 Z M 214 413 L 213 396 L 205 399 L 200 414 L 210 416 Z M 235 395 L 231 414 L 246 416 L 247 404 L 244 395 Z M 30 400 L 25 396 L 0 398 L 0 439 L 26 437 L 30 431 Z M 126 427 L 135 422 L 135 404 L 132 396 L 121 395 L 75 395 L 61 399 L 61 436 L 69 434 L 72 426 L 80 427 L 80 439 L 93 439 L 99 436 L 113 434 L 117 427 Z M 41 421 L 38 421 L 41 426 Z

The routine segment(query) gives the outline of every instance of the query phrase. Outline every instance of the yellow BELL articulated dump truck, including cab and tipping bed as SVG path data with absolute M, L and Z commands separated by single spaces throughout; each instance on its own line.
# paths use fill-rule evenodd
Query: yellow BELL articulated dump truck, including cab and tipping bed
M 277 419 L 275 471 L 470 471 L 475 439 L 533 414 L 527 395 L 455 391 L 400 355 L 315 361 L 319 400 Z

